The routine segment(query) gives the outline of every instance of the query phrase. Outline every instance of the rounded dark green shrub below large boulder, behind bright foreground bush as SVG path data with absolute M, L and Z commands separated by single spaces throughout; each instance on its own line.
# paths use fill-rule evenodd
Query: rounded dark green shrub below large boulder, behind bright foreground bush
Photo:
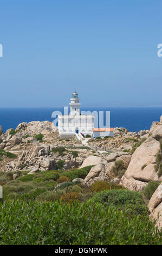
M 95 194 L 90 202 L 92 204 L 99 202 L 105 207 L 115 206 L 119 210 L 127 210 L 128 216 L 132 216 L 132 214 L 143 215 L 148 211 L 141 193 L 137 191 L 105 190 Z

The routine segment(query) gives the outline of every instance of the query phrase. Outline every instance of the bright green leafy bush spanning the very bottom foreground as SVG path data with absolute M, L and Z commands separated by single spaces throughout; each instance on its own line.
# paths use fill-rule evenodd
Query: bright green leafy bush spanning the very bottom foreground
M 0 204 L 0 245 L 160 245 L 148 216 L 132 215 L 102 204 Z

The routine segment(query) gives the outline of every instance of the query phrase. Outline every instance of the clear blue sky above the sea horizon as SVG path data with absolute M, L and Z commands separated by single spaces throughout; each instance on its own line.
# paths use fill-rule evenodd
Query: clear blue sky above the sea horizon
M 0 2 L 0 107 L 162 105 L 161 0 Z

